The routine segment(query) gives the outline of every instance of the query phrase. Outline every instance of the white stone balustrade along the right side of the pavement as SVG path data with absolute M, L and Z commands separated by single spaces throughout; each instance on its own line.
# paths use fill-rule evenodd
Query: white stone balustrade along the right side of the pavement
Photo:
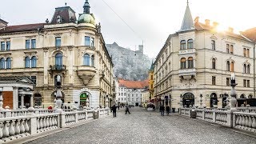
M 190 116 L 191 111 L 196 112 L 196 117 L 207 122 L 218 123 L 223 126 L 234 127 L 242 130 L 256 132 L 256 114 L 240 112 L 240 110 L 210 110 L 181 108 L 180 114 Z M 190 114 L 188 114 L 190 113 Z

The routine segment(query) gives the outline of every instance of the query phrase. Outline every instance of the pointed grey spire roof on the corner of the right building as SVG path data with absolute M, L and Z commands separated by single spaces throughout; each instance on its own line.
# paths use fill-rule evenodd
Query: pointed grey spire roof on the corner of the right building
M 180 31 L 185 31 L 185 30 L 193 30 L 194 29 L 194 21 L 192 18 L 192 15 L 190 13 L 190 6 L 186 5 L 186 11 L 184 14 L 184 18 L 182 21 L 182 27 Z

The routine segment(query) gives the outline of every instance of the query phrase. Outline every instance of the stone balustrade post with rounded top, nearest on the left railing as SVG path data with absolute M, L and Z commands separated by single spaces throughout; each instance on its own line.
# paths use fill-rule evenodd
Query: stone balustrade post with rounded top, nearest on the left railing
M 27 109 L 28 111 L 28 116 L 30 116 L 30 121 L 28 122 L 28 126 L 29 126 L 29 133 L 32 135 L 32 134 L 37 134 L 37 125 L 38 125 L 38 122 L 37 122 L 37 117 L 36 115 L 37 114 L 34 114 L 34 107 L 29 107 Z

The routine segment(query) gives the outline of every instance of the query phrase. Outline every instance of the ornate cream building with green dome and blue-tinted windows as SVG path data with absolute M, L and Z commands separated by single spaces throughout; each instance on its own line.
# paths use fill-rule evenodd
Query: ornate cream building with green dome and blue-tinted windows
M 19 103 L 54 106 L 57 75 L 65 106 L 111 101 L 114 65 L 88 0 L 83 8 L 78 20 L 70 6 L 56 8 L 46 23 L 7 26 L 0 20 L 0 76 L 27 76 L 36 83 L 34 98 L 25 95 L 28 102 Z

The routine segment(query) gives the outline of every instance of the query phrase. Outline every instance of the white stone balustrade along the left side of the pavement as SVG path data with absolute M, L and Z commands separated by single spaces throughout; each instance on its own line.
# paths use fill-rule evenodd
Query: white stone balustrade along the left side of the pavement
M 65 112 L 63 110 L 37 112 L 34 108 L 30 107 L 26 110 L 26 115 L 24 110 L 22 110 L 22 113 L 16 113 L 16 111 L 14 113 L 8 113 L 7 111 L 6 114 L 24 115 L 0 118 L 0 143 L 10 142 L 18 138 L 66 127 L 71 124 L 86 121 L 87 119 L 104 117 L 110 114 L 110 109 L 73 110 L 72 112 Z

